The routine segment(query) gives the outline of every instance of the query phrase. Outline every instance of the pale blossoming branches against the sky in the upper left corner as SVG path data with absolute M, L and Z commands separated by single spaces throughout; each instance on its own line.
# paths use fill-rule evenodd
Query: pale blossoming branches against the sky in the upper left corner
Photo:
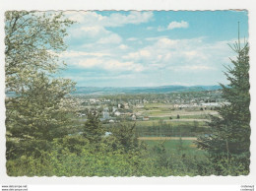
M 8 11 L 5 14 L 6 88 L 18 91 L 37 72 L 59 70 L 56 53 L 73 22 L 62 13 Z M 29 73 L 32 73 L 31 76 Z M 23 82 L 25 81 L 25 82 Z

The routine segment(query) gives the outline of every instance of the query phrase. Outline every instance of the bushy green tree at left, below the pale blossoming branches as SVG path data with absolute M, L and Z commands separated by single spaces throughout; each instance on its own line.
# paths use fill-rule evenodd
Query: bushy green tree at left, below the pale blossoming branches
M 28 89 L 8 104 L 15 107 L 8 118 L 11 137 L 52 141 L 66 135 L 70 123 L 61 101 L 72 89 L 69 80 L 50 80 L 38 74 Z

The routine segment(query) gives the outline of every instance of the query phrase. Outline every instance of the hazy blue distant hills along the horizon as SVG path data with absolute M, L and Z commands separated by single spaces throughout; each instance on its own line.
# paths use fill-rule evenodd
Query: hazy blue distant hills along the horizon
M 179 92 L 201 92 L 222 89 L 221 86 L 161 86 L 161 87 L 76 87 L 73 95 L 119 95 L 119 94 L 168 94 Z

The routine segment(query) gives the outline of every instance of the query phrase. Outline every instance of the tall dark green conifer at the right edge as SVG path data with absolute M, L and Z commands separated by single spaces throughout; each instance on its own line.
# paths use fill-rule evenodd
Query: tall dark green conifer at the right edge
M 250 164 L 250 95 L 249 95 L 249 45 L 244 40 L 230 46 L 237 54 L 224 73 L 229 84 L 223 88 L 228 102 L 218 109 L 220 117 L 211 116 L 212 134 L 200 137 L 197 145 L 209 153 L 219 174 L 248 174 Z M 220 164 L 222 162 L 222 164 Z M 239 170 L 233 169 L 239 166 Z

